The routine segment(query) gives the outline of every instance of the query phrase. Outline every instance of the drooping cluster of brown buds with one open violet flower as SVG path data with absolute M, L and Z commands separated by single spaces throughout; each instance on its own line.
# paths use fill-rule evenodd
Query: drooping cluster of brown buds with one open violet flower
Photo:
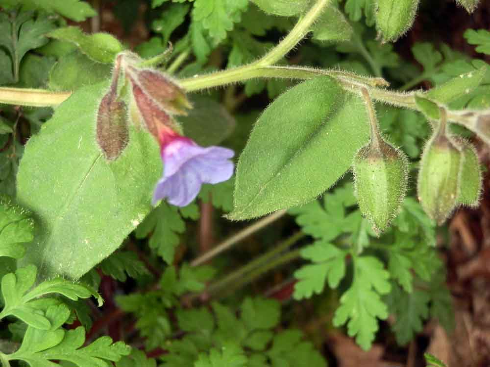
M 185 93 L 161 72 L 138 68 L 137 61 L 133 54 L 122 54 L 116 59 L 113 83 L 99 105 L 98 144 L 110 160 L 117 159 L 127 144 L 127 126 L 122 126 L 120 117 L 125 104 L 117 98 L 121 69 L 131 91 L 131 119 L 160 144 L 163 177 L 156 184 L 152 203 L 167 199 L 172 205 L 186 206 L 196 198 L 202 184 L 218 184 L 233 175 L 234 164 L 230 159 L 234 152 L 218 146 L 204 148 L 182 136 L 173 116 L 186 115 L 186 109 L 192 108 Z M 124 140 L 119 138 L 122 135 Z

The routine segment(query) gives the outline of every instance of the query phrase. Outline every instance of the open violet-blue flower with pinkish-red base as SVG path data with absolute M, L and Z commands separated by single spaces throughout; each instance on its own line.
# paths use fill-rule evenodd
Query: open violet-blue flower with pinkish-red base
M 199 193 L 201 184 L 218 184 L 233 175 L 231 149 L 219 146 L 203 148 L 194 140 L 179 135 L 167 135 L 162 142 L 163 177 L 153 193 L 153 205 L 160 199 L 175 206 L 190 204 Z

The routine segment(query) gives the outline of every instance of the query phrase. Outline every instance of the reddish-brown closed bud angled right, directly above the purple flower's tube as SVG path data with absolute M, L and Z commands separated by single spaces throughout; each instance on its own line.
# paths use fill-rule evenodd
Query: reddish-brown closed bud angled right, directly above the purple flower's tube
M 182 89 L 161 72 L 132 66 L 127 67 L 127 72 L 131 80 L 167 113 L 187 115 L 186 110 L 192 108 Z

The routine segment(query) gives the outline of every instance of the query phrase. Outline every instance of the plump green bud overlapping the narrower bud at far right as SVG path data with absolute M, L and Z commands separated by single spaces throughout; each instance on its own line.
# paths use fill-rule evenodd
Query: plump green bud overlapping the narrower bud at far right
M 441 225 L 458 203 L 462 158 L 458 147 L 445 134 L 442 126 L 445 122 L 439 125 L 424 148 L 417 190 L 427 215 Z

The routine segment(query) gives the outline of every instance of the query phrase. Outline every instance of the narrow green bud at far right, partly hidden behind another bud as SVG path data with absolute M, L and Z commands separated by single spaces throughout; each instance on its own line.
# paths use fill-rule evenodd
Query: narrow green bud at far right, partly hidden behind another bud
M 466 140 L 459 140 L 462 160 L 459 172 L 458 203 L 466 206 L 478 206 L 482 194 L 482 171 L 475 147 Z

